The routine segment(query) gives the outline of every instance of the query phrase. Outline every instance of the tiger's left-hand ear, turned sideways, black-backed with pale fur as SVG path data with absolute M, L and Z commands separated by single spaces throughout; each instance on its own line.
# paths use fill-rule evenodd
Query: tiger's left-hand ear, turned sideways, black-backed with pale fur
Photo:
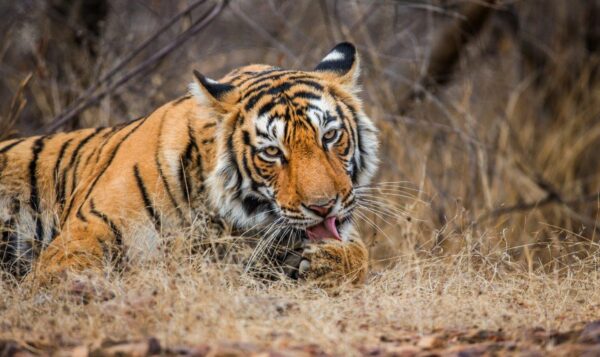
M 239 91 L 235 86 L 210 79 L 198 71 L 194 71 L 194 77 L 190 92 L 201 105 L 218 112 L 228 112 L 239 101 Z

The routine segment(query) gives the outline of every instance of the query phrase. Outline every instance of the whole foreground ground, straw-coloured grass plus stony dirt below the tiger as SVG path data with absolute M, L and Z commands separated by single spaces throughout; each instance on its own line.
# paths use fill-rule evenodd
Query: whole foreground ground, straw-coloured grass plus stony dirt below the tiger
M 520 271 L 466 256 L 398 257 L 338 294 L 238 265 L 165 259 L 50 290 L 6 282 L 0 355 L 597 355 L 589 267 Z

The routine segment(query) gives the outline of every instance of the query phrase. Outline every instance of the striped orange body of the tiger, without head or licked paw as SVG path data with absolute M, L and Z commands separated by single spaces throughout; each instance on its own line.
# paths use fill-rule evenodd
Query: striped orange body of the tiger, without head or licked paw
M 159 232 L 189 225 L 206 202 L 215 130 L 186 97 L 126 125 L 4 143 L 3 264 L 22 275 L 50 243 L 100 257 L 109 246 L 134 245 L 127 239 L 140 227 L 154 227 L 148 240 L 156 241 Z M 85 239 L 75 247 L 77 236 Z

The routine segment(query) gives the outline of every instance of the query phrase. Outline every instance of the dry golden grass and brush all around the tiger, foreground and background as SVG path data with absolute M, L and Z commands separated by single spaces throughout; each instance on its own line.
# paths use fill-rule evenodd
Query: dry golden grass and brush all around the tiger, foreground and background
M 0 355 L 600 354 L 596 2 L 232 1 L 144 65 L 209 1 L 104 82 L 193 2 L 109 1 L 101 30 L 73 32 L 83 40 L 59 26 L 89 26 L 65 3 L 0 4 L 17 19 L 0 27 L 3 138 L 47 132 L 82 93 L 107 90 L 62 128 L 147 114 L 184 94 L 192 69 L 311 68 L 334 43 L 357 44 L 382 143 L 379 209 L 357 218 L 372 270 L 330 294 L 184 249 L 50 290 L 6 278 Z M 460 27 L 469 6 L 489 10 L 477 30 Z M 428 78 L 457 28 L 471 37 Z

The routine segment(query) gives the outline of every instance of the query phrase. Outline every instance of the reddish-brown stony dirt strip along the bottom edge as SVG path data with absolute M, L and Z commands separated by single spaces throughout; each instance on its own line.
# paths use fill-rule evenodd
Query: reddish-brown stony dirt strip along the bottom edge
M 73 355 L 73 356 L 330 356 L 315 344 L 280 341 L 278 348 L 243 342 L 199 341 L 197 344 L 168 346 L 156 338 L 138 341 L 104 341 L 97 346 L 79 345 L 50 348 L 35 343 L 0 341 L 0 355 Z M 600 354 L 600 321 L 582 329 L 566 332 L 542 328 L 523 329 L 507 334 L 489 330 L 438 331 L 420 335 L 395 331 L 382 335 L 376 346 L 357 350 L 365 356 L 483 356 L 530 355 L 574 356 Z

